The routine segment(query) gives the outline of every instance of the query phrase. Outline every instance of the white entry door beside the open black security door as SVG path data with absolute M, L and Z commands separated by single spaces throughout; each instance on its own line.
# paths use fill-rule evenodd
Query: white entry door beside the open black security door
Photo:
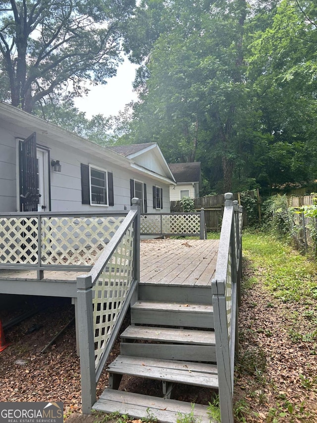
M 38 211 L 49 211 L 49 157 L 45 150 L 36 150 L 39 203 Z

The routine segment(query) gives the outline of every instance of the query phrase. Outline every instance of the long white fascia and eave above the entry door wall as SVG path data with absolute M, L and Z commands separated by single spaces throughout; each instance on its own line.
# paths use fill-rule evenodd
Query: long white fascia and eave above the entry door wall
M 32 132 L 39 132 L 48 142 L 58 141 L 67 144 L 87 154 L 111 160 L 113 164 L 127 167 L 131 162 L 121 154 L 3 102 L 0 102 L 0 118 Z

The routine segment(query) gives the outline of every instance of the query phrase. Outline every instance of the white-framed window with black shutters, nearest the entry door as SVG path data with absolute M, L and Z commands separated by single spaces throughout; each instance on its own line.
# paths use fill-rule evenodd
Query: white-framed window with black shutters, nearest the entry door
M 113 176 L 106 169 L 81 164 L 82 203 L 113 206 Z

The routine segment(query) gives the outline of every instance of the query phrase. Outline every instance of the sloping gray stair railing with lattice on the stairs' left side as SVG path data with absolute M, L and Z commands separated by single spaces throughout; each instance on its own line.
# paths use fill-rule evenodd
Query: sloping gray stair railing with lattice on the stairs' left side
M 77 277 L 83 414 L 96 402 L 96 385 L 140 281 L 140 201 L 129 211 L 88 275 Z

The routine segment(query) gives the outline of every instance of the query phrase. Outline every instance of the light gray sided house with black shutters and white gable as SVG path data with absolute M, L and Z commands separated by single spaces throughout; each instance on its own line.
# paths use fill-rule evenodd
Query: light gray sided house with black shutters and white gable
M 0 212 L 169 212 L 174 177 L 156 143 L 106 148 L 0 102 Z

